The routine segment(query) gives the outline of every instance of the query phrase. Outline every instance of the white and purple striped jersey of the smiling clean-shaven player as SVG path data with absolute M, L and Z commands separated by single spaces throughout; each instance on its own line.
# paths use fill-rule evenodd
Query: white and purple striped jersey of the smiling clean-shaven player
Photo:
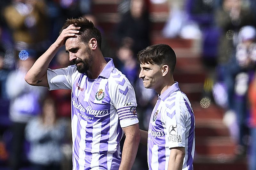
M 195 117 L 187 96 L 175 82 L 159 96 L 148 127 L 149 170 L 167 170 L 170 149 L 184 147 L 183 170 L 193 169 Z

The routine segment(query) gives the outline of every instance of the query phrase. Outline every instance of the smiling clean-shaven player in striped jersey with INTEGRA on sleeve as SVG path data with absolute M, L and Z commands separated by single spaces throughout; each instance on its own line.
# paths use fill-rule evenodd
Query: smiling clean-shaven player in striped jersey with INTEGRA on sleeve
M 195 117 L 173 79 L 176 55 L 170 46 L 158 44 L 141 50 L 137 58 L 144 87 L 159 95 L 148 131 L 140 130 L 141 143 L 148 144 L 149 170 L 192 170 Z

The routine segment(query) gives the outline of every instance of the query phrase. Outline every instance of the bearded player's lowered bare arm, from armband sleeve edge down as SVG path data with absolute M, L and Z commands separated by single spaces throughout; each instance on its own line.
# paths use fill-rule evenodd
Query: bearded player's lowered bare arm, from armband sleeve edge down
M 133 124 L 122 129 L 125 134 L 125 140 L 119 170 L 131 170 L 140 143 L 139 124 Z

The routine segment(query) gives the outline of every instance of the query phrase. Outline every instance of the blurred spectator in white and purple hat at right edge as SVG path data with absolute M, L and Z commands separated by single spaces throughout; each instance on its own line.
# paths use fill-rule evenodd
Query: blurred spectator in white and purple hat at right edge
M 239 73 L 235 78 L 235 112 L 238 123 L 238 146 L 236 154 L 245 156 L 248 144 L 248 108 L 247 91 L 254 76 L 256 63 L 256 29 L 253 26 L 244 26 L 238 34 L 238 45 L 236 47 L 236 60 L 239 65 Z

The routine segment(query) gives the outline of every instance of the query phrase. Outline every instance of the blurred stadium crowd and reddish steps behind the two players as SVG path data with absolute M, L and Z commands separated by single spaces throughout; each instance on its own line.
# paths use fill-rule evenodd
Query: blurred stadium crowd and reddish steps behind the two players
M 141 129 L 157 95 L 138 78 L 136 54 L 168 44 L 195 113 L 194 169 L 256 170 L 255 0 L 2 0 L 0 12 L 0 170 L 72 168 L 71 91 L 32 87 L 24 76 L 65 20 L 83 16 L 132 83 Z M 50 67 L 71 64 L 63 48 Z M 133 170 L 146 169 L 140 145 Z

